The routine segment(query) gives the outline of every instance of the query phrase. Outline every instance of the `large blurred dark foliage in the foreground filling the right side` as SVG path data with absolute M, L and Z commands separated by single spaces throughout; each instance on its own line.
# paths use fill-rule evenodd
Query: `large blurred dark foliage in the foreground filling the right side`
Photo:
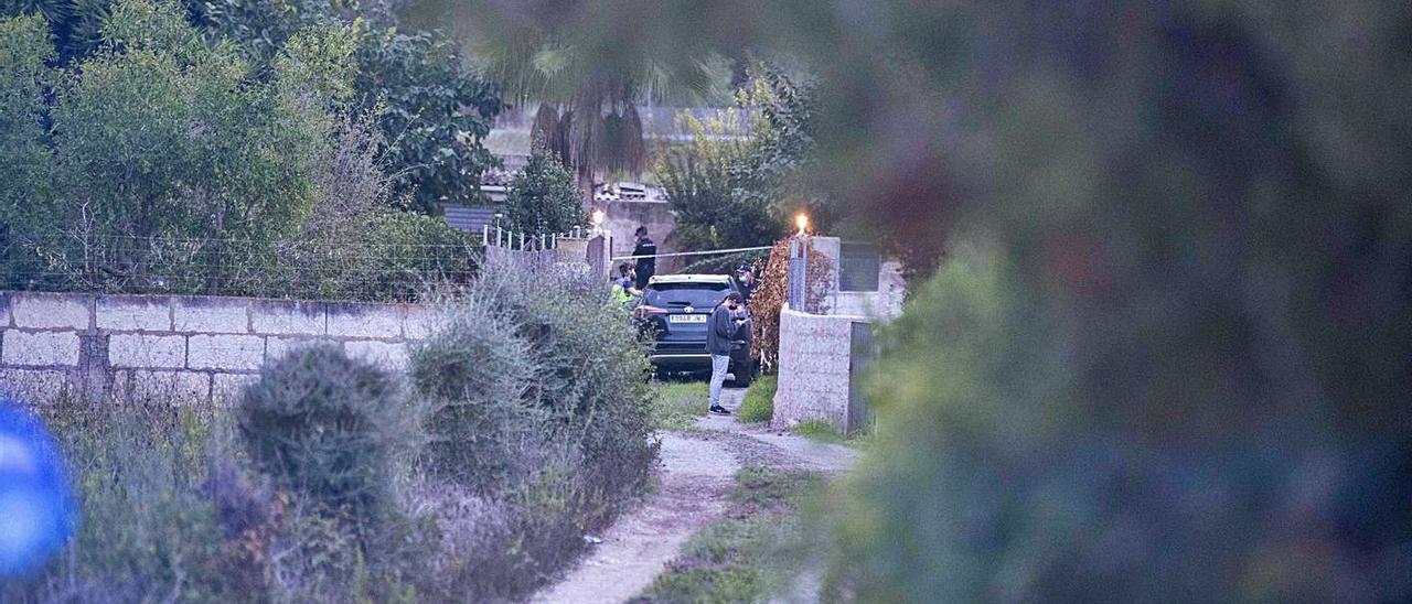
M 1412 459 L 1412 6 L 654 10 L 644 40 L 816 71 L 820 171 L 918 275 L 947 238 L 990 257 L 925 286 L 873 367 L 840 596 L 1412 593 L 1389 478 Z

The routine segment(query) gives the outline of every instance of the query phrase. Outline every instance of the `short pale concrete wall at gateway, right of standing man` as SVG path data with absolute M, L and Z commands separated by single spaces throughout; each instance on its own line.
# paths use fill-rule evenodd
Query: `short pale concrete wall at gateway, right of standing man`
M 847 429 L 854 322 L 867 319 L 810 315 L 789 306 L 779 312 L 779 388 L 771 422 L 775 428 L 823 419 Z

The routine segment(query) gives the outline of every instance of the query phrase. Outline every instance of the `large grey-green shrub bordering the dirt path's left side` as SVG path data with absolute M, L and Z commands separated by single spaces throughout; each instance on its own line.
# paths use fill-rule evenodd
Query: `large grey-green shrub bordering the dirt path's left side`
M 431 408 L 419 505 L 443 539 L 429 597 L 517 598 L 647 484 L 650 367 L 597 282 L 487 265 L 409 363 Z

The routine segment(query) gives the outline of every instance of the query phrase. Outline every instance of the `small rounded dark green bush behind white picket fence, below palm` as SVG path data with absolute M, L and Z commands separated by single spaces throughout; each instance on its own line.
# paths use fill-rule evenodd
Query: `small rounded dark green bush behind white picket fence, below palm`
M 573 172 L 555 155 L 534 151 L 525 169 L 510 181 L 505 220 L 524 233 L 566 233 L 585 224 L 583 193 Z

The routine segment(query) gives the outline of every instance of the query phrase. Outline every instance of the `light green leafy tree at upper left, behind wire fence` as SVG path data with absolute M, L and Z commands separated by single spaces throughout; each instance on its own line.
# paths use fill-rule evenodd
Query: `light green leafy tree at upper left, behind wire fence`
M 6 55 L 42 61 L 45 52 L 27 42 L 38 23 L 7 23 L 28 32 L 0 41 Z M 313 202 L 308 175 L 328 148 L 333 120 L 325 107 L 337 96 L 311 76 L 337 79 L 352 45 L 339 47 L 330 31 L 299 40 L 281 55 L 275 79 L 261 85 L 227 47 L 202 44 L 174 4 L 117 4 L 99 49 L 72 73 L 28 71 L 58 82 L 52 107 L 32 97 L 10 104 L 25 119 L 16 124 L 21 135 L 42 135 L 49 121 L 52 137 L 21 148 L 54 165 L 52 179 L 16 181 L 21 191 L 49 195 L 27 200 L 28 217 L 44 222 L 10 236 L 56 272 L 113 282 L 160 279 L 155 271 L 174 258 L 158 254 L 152 240 L 172 237 L 191 243 L 181 251 L 188 261 L 210 268 L 202 279 L 227 278 L 227 257 L 215 241 L 287 236 Z

